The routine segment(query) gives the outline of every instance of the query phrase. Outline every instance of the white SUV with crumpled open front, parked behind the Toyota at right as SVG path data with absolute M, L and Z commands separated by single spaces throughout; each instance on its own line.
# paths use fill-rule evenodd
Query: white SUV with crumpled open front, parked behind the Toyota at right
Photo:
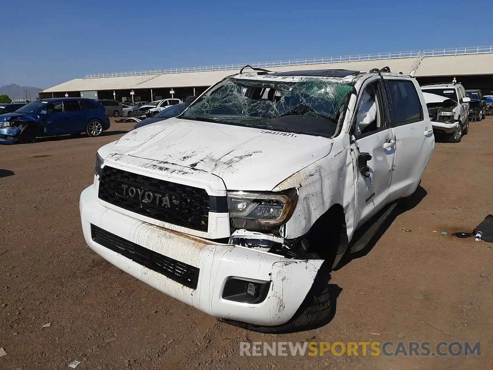
M 421 86 L 433 129 L 458 143 L 469 131 L 469 103 L 464 87 L 454 82 Z

